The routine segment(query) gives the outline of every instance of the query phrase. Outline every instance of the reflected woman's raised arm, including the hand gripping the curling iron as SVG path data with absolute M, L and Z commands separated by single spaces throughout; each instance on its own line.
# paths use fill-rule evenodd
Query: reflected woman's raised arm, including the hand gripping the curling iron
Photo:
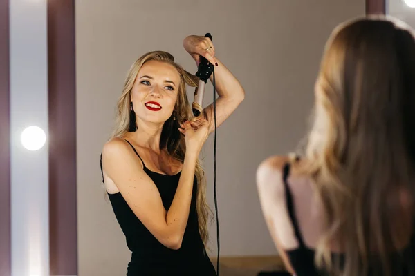
M 215 56 L 214 46 L 208 37 L 191 35 L 184 39 L 183 46 L 192 55 L 196 65 L 199 65 L 199 55 L 208 59 L 210 63 L 217 64 L 214 68 L 214 75 L 216 91 L 219 95 L 216 99 L 216 126 L 219 127 L 243 101 L 245 91 L 232 72 Z M 207 48 L 209 49 L 205 50 Z M 213 81 L 213 74 L 210 76 L 210 81 Z M 213 103 L 203 110 L 205 119 L 209 121 L 209 134 L 214 131 L 213 111 Z

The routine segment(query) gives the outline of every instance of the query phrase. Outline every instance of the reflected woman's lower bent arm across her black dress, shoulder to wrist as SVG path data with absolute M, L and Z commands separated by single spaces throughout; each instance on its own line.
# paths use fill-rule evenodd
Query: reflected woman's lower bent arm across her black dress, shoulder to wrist
M 142 224 L 171 249 L 181 247 L 189 217 L 198 153 L 187 150 L 176 194 L 169 210 L 165 210 L 160 193 L 151 178 L 142 169 L 137 155 L 122 139 L 112 139 L 102 151 L 104 174 L 120 190 L 133 213 Z

